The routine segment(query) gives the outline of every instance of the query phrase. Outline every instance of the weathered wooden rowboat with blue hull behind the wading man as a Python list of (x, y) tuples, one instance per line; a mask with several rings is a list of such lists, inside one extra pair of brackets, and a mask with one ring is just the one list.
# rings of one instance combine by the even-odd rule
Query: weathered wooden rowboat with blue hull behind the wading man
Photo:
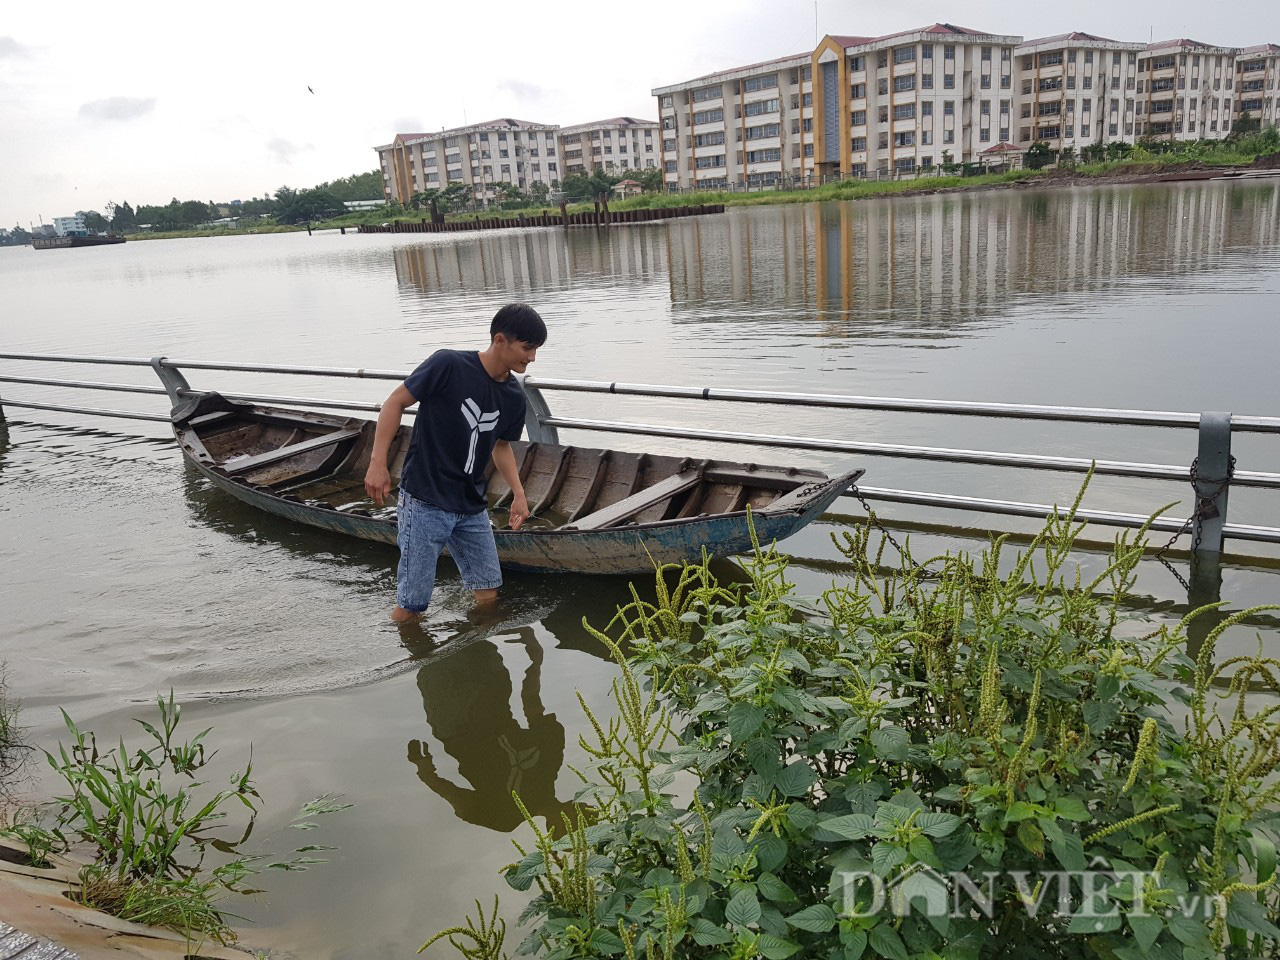
[[(183, 456), (220, 489), (288, 520), (396, 543), (396, 486), (410, 426), (392, 440), (392, 499), (365, 497), (375, 424), (357, 417), (229, 401), (201, 393), (173, 408)], [(861, 470), (814, 470), (512, 444), (531, 517), (507, 524), (511, 489), (490, 463), (489, 503), (503, 566), (535, 572), (643, 573), (654, 563), (751, 549), (748, 507), (762, 543), (815, 520)]]

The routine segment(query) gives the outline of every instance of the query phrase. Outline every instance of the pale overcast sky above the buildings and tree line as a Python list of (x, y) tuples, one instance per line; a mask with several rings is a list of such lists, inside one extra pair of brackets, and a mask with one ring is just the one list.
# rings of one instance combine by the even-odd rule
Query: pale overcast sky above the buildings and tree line
[(655, 86), (812, 50), (815, 32), (874, 36), (938, 20), (1027, 38), (1080, 29), (1280, 44), (1275, 0), (9, 0), (0, 225), (109, 200), (247, 200), (310, 187), (374, 169), (372, 147), (397, 132), (497, 116), (657, 119)]

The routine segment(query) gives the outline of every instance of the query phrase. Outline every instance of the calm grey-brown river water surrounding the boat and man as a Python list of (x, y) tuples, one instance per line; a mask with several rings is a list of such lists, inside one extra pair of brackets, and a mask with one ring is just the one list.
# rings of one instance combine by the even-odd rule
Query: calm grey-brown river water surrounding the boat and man
[[(600, 234), (0, 250), (0, 349), (410, 369), (438, 347), (483, 346), (489, 317), (513, 298), (548, 320), (532, 369), (545, 376), (1280, 415), (1275, 182), (740, 209)], [(141, 369), (0, 367), (151, 383)], [(191, 380), (364, 402), (390, 387), (211, 371)], [(163, 412), (159, 398), (128, 394), (4, 394)], [(760, 433), (1165, 463), (1194, 451), (1179, 430), (548, 398), (571, 416)], [(613, 445), (746, 456), (635, 436)], [(1236, 453), (1242, 468), (1280, 470), (1274, 439), (1243, 438)], [(1046, 503), (1078, 483), (864, 466), (877, 486)], [(1098, 480), (1087, 506), (1148, 512), (1185, 495), (1181, 485)], [(979, 541), (973, 517), (886, 513), (929, 525), (916, 534), (928, 547)], [(1280, 507), (1242, 490), (1231, 517), (1280, 525)], [(803, 590), (840, 576), (828, 534), (842, 522), (828, 517), (788, 541)], [(1234, 607), (1280, 596), (1265, 552), (1253, 554), (1226, 570)], [(575, 690), (603, 703), (612, 676), (580, 623), (608, 620), (625, 581), (511, 576), (500, 622), (475, 625), (445, 567), (439, 607), (421, 631), (401, 634), (384, 623), (394, 562), (392, 549), (293, 527), (210, 489), (161, 425), (17, 408), (0, 425), (0, 660), (33, 739), (56, 741), (59, 707), (101, 733), (128, 731), (173, 687), (193, 728), (215, 727), (220, 758), (252, 745), (262, 849), (297, 845), (288, 819), (317, 794), (356, 803), (320, 837), (340, 847), (334, 863), (268, 876), (266, 897), (236, 908), (255, 920), (248, 942), (278, 955), (412, 956), (474, 896), (492, 896), (518, 836), (509, 791), (539, 815), (570, 800), (566, 764), (580, 758), (582, 730)], [(1135, 607), (1176, 617), (1176, 584), (1146, 566)], [(507, 901), (517, 913), (520, 897)]]

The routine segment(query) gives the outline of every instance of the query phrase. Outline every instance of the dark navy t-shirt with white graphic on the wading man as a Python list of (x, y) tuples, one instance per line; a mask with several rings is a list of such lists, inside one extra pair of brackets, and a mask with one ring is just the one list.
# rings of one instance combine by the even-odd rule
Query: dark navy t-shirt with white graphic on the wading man
[(475, 351), (457, 349), (433, 353), (404, 387), (419, 406), (401, 486), (440, 509), (480, 513), (489, 454), (525, 429), (524, 389), (515, 376), (489, 376)]

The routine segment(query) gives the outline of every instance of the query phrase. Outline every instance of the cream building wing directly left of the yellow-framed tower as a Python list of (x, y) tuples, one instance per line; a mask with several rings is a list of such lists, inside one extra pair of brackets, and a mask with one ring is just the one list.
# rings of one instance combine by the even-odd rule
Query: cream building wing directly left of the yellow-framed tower
[(813, 174), (809, 54), (657, 87), (663, 180), (767, 186)]

